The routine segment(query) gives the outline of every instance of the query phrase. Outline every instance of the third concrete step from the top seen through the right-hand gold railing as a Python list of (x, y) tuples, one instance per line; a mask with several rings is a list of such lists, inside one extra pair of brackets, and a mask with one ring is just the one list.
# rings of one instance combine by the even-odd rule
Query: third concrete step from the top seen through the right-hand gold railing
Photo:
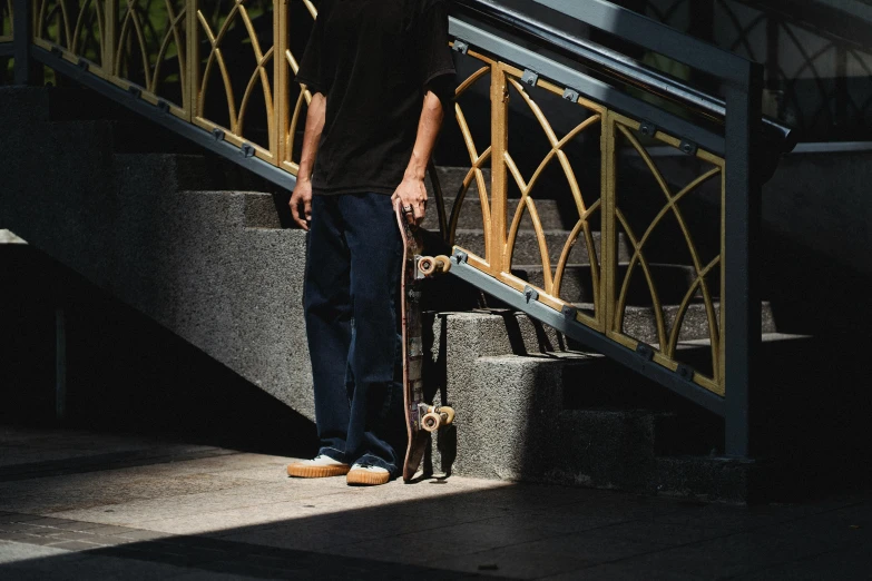
[[(548, 255), (552, 265), (557, 265), (560, 259), (560, 254), (564, 250), (569, 233), (566, 230), (546, 230), (545, 239), (548, 245)], [(594, 248), (597, 256), (600, 255), (600, 239), (601, 235), (598, 232), (594, 233)], [(454, 238), (454, 244), (466, 248), (467, 250), (484, 256), (484, 234), (481, 230), (458, 230)], [(625, 238), (621, 236), (618, 238), (618, 260), (629, 260), (629, 249), (627, 248)], [(570, 254), (571, 264), (588, 264), (590, 257), (588, 255), (587, 245), (584, 240), (576, 243)], [(520, 230), (515, 242), (515, 254), (512, 256), (512, 265), (529, 265), (539, 263), (541, 264), (541, 254), (539, 253), (539, 239), (533, 230)]]

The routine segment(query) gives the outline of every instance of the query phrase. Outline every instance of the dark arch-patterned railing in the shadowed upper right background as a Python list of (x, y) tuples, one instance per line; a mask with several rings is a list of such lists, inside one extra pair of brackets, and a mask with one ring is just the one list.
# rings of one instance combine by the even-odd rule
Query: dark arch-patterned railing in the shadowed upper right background
[[(694, 19), (694, 11), (703, 4), (711, 10), (709, 22)], [(790, 122), (807, 139), (868, 139), (872, 134), (869, 39), (864, 46), (858, 45), (802, 20), (802, 14), (791, 18), (771, 10), (766, 2), (647, 0), (645, 12), (676, 29), (711, 36), (723, 48), (766, 63), (771, 92), (764, 101), (765, 112)], [(700, 26), (709, 28), (700, 30)], [(824, 68), (833, 71), (826, 75)]]

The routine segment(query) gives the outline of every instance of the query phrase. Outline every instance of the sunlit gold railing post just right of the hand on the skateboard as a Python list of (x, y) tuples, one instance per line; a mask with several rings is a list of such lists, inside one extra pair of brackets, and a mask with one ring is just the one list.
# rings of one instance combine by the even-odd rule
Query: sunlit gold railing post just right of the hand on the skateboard
[(509, 272), (506, 256), (506, 213), (508, 198), (508, 173), (506, 151), (509, 148), (509, 86), (501, 62), (496, 62), (490, 76), (491, 111), (491, 185), (490, 185), (490, 232), (484, 233), (484, 259), (490, 274)]

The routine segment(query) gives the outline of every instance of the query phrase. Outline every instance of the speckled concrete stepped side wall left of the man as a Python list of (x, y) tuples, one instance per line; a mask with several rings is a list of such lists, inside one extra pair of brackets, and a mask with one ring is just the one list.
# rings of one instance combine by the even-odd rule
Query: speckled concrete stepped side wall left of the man
[(305, 235), (268, 194), (217, 191), (200, 157), (117, 154), (111, 121), (49, 119), (45, 89), (0, 88), (0, 228), (313, 418)]

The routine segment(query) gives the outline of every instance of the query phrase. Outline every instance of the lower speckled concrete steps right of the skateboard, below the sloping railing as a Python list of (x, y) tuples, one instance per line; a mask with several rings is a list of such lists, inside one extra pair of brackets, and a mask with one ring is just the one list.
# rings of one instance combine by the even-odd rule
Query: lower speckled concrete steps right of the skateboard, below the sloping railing
[(718, 502), (765, 489), (760, 466), (722, 457), (722, 418), (549, 333), (509, 312), (439, 315), (433, 393), (458, 420), (437, 437), (434, 470)]

